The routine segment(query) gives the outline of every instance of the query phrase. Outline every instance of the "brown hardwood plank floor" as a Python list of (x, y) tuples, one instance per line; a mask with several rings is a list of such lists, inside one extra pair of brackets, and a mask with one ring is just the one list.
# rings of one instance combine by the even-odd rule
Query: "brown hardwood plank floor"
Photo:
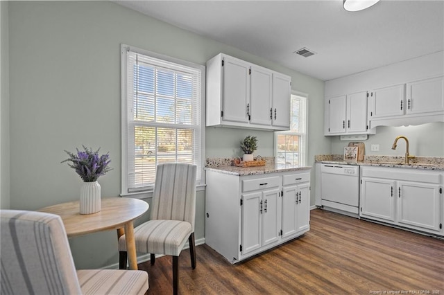
[[(301, 238), (231, 265), (206, 244), (179, 258), (180, 294), (444, 294), (444, 240), (316, 209)], [(171, 257), (139, 264), (171, 294)], [(399, 292), (399, 293), (396, 293)]]

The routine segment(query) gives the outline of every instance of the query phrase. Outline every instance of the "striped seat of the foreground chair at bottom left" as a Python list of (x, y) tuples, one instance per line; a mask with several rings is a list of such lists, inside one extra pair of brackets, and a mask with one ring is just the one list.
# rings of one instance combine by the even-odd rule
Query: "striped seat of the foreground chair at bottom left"
[(82, 294), (145, 294), (148, 274), (145, 271), (111, 269), (78, 270)]

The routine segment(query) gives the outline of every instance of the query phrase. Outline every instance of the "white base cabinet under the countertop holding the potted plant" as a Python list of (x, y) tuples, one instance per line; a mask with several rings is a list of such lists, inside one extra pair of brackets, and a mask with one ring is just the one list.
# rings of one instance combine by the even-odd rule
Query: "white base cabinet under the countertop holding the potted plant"
[(231, 263), (309, 231), (310, 170), (206, 171), (205, 243)]

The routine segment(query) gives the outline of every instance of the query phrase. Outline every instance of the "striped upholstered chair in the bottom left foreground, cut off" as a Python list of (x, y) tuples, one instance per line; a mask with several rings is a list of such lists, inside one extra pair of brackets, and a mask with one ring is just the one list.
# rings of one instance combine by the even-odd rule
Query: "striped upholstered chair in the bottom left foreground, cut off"
[(145, 294), (146, 271), (78, 270), (58, 215), (1, 210), (1, 294)]

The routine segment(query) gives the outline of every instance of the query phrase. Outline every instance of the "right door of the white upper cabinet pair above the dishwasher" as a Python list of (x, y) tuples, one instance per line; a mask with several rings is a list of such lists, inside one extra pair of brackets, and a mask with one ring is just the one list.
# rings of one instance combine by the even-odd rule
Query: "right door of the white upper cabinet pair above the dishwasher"
[(367, 91), (347, 96), (347, 132), (367, 132)]

